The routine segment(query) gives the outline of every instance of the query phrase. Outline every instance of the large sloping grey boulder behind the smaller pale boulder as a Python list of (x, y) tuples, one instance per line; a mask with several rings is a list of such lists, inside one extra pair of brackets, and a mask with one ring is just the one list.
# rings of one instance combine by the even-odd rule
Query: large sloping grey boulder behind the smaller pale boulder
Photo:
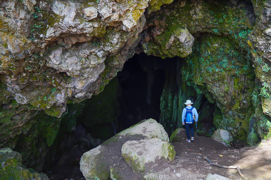
[[(104, 141), (101, 145), (94, 149), (91, 149), (83, 154), (80, 160), (80, 170), (86, 179), (104, 179), (110, 178), (113, 173), (114, 178), (119, 175), (118, 167), (110, 169), (113, 164), (125, 164), (125, 161), (121, 155), (122, 145), (130, 140), (141, 139), (160, 139), (163, 142), (168, 141), (168, 135), (161, 124), (154, 119), (142, 120), (138, 124), (135, 124), (128, 129), (125, 129), (118, 134), (114, 135), (110, 139)], [(166, 141), (162, 140), (165, 139)], [(163, 151), (163, 155), (173, 160), (175, 157), (174, 147), (168, 142), (168, 145), (164, 145), (163, 149), (169, 151)], [(130, 168), (130, 167), (129, 167)], [(110, 173), (111, 171), (111, 173)], [(130, 169), (129, 174), (134, 172)], [(121, 175), (123, 175), (121, 173)], [(141, 176), (138, 173), (134, 173), (134, 176)], [(125, 179), (125, 177), (123, 177)]]

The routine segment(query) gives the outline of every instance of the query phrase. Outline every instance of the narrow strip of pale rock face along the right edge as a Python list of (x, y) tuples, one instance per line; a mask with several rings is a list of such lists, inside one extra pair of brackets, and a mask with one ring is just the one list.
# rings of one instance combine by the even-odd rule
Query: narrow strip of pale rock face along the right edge
[(253, 0), (252, 2), (254, 11), (256, 12), (256, 23), (249, 36), (248, 43), (251, 46), (251, 53), (253, 55), (255, 75), (260, 82), (262, 110), (264, 114), (270, 117), (271, 75), (269, 64), (271, 62), (271, 29), (268, 19), (270, 19), (271, 16), (271, 1)]

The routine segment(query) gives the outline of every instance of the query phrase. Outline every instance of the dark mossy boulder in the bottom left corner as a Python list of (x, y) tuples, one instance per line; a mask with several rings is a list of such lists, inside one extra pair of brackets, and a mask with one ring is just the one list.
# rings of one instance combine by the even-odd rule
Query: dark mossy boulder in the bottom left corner
[(0, 180), (49, 180), (44, 173), (28, 169), (22, 164), (22, 155), (10, 148), (0, 149)]

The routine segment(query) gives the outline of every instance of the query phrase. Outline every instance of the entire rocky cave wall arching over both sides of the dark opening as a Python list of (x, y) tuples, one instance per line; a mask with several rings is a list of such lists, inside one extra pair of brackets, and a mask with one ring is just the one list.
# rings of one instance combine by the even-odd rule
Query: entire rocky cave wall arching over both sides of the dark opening
[[(124, 62), (140, 52), (183, 58), (174, 79), (166, 77), (161, 122), (178, 126), (175, 104), (188, 96), (181, 92), (185, 82), (217, 104), (217, 128), (257, 142), (271, 129), (270, 4), (270, 0), (2, 0), (0, 147), (13, 149), (24, 136), (38, 142), (30, 135), (33, 132), (46, 140), (41, 147), (50, 146), (67, 103), (101, 92)], [(31, 152), (31, 145), (19, 146)]]

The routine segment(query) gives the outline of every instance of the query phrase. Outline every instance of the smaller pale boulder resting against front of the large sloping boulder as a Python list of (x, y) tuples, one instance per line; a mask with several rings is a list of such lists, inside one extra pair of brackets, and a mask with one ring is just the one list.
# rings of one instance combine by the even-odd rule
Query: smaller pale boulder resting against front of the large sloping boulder
[(126, 141), (121, 148), (122, 157), (134, 171), (144, 172), (145, 165), (161, 158), (174, 160), (174, 147), (162, 139), (151, 138)]

